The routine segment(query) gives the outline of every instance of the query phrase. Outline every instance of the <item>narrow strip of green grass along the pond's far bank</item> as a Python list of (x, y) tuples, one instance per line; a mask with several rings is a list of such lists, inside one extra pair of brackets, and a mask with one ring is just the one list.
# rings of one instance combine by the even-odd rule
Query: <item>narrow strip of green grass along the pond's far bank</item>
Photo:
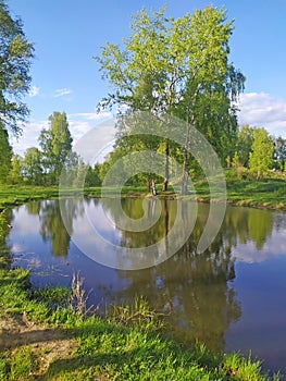
[[(269, 177), (261, 181), (239, 180), (226, 175), (227, 184), (227, 204), (235, 206), (264, 208), (272, 210), (286, 211), (286, 177)], [(175, 188), (175, 189), (174, 189)], [(207, 181), (195, 183), (196, 194), (181, 196), (179, 188), (171, 188), (170, 192), (161, 192), (158, 185), (159, 198), (184, 198), (197, 199), (198, 201), (209, 202), (209, 185)], [(175, 192), (176, 190), (176, 192)], [(67, 196), (78, 195), (80, 189), (69, 189)], [(104, 196), (114, 196), (116, 189), (105, 188)], [(87, 197), (101, 197), (100, 187), (89, 187), (84, 189)], [(146, 186), (125, 186), (121, 190), (123, 197), (146, 197), (150, 196)], [(16, 206), (37, 199), (57, 199), (59, 198), (58, 186), (32, 186), (32, 185), (0, 185), (0, 209), (9, 206)]]

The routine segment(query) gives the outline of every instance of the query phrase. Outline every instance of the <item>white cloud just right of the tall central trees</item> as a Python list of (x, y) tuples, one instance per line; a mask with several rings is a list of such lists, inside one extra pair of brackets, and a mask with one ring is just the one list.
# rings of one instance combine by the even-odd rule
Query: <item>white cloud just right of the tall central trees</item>
[(266, 93), (246, 93), (240, 96), (239, 123), (265, 127), (269, 133), (286, 136), (286, 100)]

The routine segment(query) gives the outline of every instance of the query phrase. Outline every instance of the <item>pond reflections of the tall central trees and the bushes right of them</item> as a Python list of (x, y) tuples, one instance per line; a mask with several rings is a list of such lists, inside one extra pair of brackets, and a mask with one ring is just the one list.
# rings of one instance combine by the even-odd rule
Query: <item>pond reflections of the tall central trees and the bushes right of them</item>
[[(140, 218), (140, 202), (125, 199), (123, 209), (132, 218)], [(105, 207), (111, 207), (109, 204), (110, 200), (104, 201)], [(163, 200), (158, 223), (148, 232), (122, 231), (122, 245), (140, 247), (162, 238), (172, 228), (177, 210), (176, 201)], [(179, 210), (184, 226), (188, 202), (183, 202)], [(116, 220), (116, 211), (110, 208), (110, 212)], [(272, 232), (273, 221), (270, 212), (227, 209), (216, 238), (203, 254), (198, 254), (196, 248), (208, 216), (209, 207), (200, 205), (189, 239), (167, 261), (140, 271), (117, 271), (129, 286), (119, 291), (115, 299), (132, 300), (138, 294), (144, 295), (156, 309), (172, 311), (169, 318), (172, 335), (186, 343), (198, 340), (211, 349), (223, 351), (225, 331), (241, 316), (240, 304), (232, 287), (235, 279), (232, 249), (247, 241), (253, 241), (257, 248), (262, 248)]]

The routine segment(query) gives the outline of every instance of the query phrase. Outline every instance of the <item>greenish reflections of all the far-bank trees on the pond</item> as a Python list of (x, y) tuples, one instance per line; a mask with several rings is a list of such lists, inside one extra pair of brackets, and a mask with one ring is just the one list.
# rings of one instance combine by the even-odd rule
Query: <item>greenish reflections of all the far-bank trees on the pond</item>
[[(135, 220), (144, 214), (141, 199), (123, 198), (122, 209), (111, 198), (84, 201), (70, 198), (61, 202), (70, 233), (73, 233), (76, 225), (75, 220), (78, 226), (85, 218), (85, 207), (90, 207), (94, 213), (99, 209), (101, 212), (104, 210), (115, 225), (116, 221), (122, 221), (122, 209)], [(84, 205), (84, 202), (87, 204)], [(157, 202), (161, 202), (161, 214), (148, 230), (134, 232), (116, 228), (120, 232), (120, 244), (123, 247), (146, 247), (162, 241), (165, 250), (169, 250), (173, 243), (166, 236), (174, 226), (177, 213), (179, 213), (181, 230), (187, 230), (186, 226), (189, 226), (189, 220), (192, 218), (192, 202), (149, 199), (145, 211), (150, 218), (156, 216)], [(66, 256), (71, 237), (63, 223), (59, 201), (29, 202), (26, 209), (29, 213), (39, 216), (40, 234), (45, 242), (50, 242), (52, 255)], [(112, 290), (102, 287), (100, 292), (103, 294), (103, 299), (112, 299), (114, 303), (132, 302), (136, 295), (142, 295), (157, 310), (171, 312), (166, 319), (170, 335), (188, 344), (198, 340), (212, 349), (223, 351), (226, 330), (241, 316), (240, 304), (232, 286), (232, 281), (236, 276), (233, 253), (239, 244), (247, 243), (253, 243), (257, 250), (262, 249), (272, 234), (273, 214), (249, 208), (227, 208), (216, 238), (204, 253), (198, 254), (197, 245), (208, 216), (209, 206), (199, 205), (195, 228), (185, 245), (175, 255), (145, 270), (110, 269), (109, 274), (113, 276), (112, 273), (116, 273), (120, 280), (124, 281), (124, 286), (112, 287)], [(91, 237), (82, 237), (85, 241), (89, 238), (91, 247), (96, 249)], [(176, 238), (178, 241), (182, 238), (179, 231), (174, 239)], [(124, 260), (130, 262), (133, 258), (128, 256), (132, 251), (126, 253), (127, 257)], [(160, 256), (160, 253), (157, 255)], [(90, 261), (88, 263), (90, 266)], [(92, 266), (96, 269), (98, 263), (94, 262)], [(85, 275), (84, 269), (82, 274)], [(109, 280), (105, 281), (109, 284)]]

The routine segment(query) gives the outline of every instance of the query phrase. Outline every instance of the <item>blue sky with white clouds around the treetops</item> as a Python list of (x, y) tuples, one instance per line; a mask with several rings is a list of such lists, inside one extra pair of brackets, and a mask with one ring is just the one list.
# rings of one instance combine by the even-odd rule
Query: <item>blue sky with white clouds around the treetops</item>
[(8, 0), (36, 53), (32, 91), (25, 99), (29, 123), (23, 136), (12, 140), (14, 151), (37, 145), (53, 111), (67, 113), (75, 140), (108, 116), (96, 113), (110, 88), (92, 57), (107, 41), (120, 44), (129, 35), (132, 14), (166, 4), (167, 15), (179, 17), (211, 3), (225, 7), (228, 19), (235, 20), (231, 60), (247, 77), (240, 123), (286, 136), (285, 0)]

